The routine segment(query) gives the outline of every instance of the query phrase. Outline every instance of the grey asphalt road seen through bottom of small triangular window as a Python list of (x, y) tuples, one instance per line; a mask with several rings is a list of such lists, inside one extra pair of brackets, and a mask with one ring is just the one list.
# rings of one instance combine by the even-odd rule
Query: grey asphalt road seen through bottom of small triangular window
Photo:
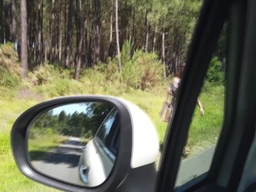
[(201, 154), (183, 159), (180, 164), (176, 186), (181, 186), (193, 178), (205, 174), (210, 169), (214, 150), (215, 146), (212, 146), (210, 149), (202, 151)]

